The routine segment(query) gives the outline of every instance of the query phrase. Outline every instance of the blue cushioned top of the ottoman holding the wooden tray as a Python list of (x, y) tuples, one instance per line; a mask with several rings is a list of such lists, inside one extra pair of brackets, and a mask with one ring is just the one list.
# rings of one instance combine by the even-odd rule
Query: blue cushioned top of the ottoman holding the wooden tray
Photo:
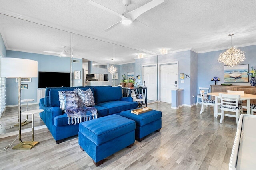
[(142, 113), (140, 115), (136, 115), (134, 113), (131, 113), (131, 111), (122, 111), (120, 115), (134, 120), (136, 122), (136, 125), (142, 127), (150, 122), (156, 121), (157, 119), (161, 119), (162, 112), (152, 110)]

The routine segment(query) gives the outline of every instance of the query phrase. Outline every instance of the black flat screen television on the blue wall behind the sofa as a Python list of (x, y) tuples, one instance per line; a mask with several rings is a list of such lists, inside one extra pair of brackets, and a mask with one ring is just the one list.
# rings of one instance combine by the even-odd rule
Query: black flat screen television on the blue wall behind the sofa
[(70, 87), (70, 73), (38, 72), (38, 88)]

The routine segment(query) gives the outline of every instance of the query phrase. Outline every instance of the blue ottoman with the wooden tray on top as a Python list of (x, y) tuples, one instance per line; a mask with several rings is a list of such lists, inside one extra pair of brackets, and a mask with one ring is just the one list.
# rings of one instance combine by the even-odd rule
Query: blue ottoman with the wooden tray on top
[(148, 111), (140, 115), (131, 113), (131, 110), (122, 111), (121, 116), (132, 119), (136, 122), (135, 139), (141, 142), (144, 138), (154, 132), (159, 132), (162, 127), (162, 112), (161, 111)]

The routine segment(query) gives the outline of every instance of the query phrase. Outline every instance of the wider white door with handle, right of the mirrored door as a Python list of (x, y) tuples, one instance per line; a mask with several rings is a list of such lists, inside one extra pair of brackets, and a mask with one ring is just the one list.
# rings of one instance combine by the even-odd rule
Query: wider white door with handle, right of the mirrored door
[(177, 89), (178, 64), (160, 65), (160, 101), (172, 103), (171, 89)]

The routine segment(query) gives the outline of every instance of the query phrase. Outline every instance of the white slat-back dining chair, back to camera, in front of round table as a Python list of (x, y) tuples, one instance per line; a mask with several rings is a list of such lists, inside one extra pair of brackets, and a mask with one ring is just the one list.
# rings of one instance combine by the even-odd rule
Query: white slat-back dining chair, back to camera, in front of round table
[[(242, 106), (239, 104), (239, 97), (240, 95), (220, 93), (220, 123), (222, 123), (224, 116), (228, 116), (235, 117), (236, 125), (238, 124), (238, 118), (240, 117), (240, 110), (242, 108)], [(225, 113), (225, 111), (234, 112), (235, 114), (233, 115), (230, 113)]]

